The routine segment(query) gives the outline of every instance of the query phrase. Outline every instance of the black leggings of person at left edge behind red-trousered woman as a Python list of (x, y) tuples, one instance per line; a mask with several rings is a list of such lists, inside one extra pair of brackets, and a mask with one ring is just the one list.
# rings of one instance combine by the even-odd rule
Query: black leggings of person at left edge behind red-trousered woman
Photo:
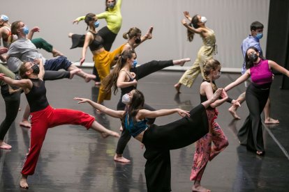
[[(8, 90), (8, 85), (1, 86), (1, 93), (6, 89)], [(13, 94), (3, 94), (3, 99), (5, 101), (5, 109), (6, 109), (6, 117), (0, 125), (0, 140), (3, 141), (4, 136), (6, 135), (10, 125), (12, 125), (13, 121), (17, 117), (17, 113), (20, 106), (20, 91)]]

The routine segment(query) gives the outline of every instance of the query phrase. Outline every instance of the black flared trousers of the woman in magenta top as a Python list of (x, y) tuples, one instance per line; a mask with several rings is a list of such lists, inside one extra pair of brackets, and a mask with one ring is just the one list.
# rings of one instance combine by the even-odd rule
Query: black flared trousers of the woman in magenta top
[(246, 145), (248, 150), (265, 152), (261, 113), (269, 97), (271, 83), (257, 85), (251, 83), (246, 89), (246, 104), (249, 109), (249, 116), (244, 121), (238, 132), (238, 138), (242, 145)]

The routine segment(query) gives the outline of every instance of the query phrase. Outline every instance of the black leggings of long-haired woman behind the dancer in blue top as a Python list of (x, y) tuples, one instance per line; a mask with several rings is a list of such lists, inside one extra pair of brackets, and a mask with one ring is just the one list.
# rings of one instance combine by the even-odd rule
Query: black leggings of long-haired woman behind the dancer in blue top
[[(143, 77), (146, 77), (147, 75), (157, 72), (158, 70), (162, 70), (165, 67), (172, 66), (172, 60), (170, 61), (150, 61), (148, 63), (144, 63), (138, 67), (132, 68), (131, 72), (134, 72), (136, 74), (135, 79), (139, 80)], [(129, 91), (128, 91), (129, 92)], [(125, 93), (121, 94), (121, 97)], [(124, 110), (124, 107), (126, 105), (121, 102), (121, 98), (119, 99), (119, 103), (117, 104), (117, 110)], [(156, 109), (152, 108), (151, 106), (144, 104), (144, 109), (147, 109), (149, 111), (156, 111)], [(154, 123), (154, 119), (149, 119), (149, 124)], [(131, 139), (131, 134), (124, 128), (124, 130), (121, 132), (121, 137), (119, 138), (119, 141), (117, 142), (117, 154), (123, 154), (124, 149), (126, 148), (126, 145), (128, 144), (128, 141)]]

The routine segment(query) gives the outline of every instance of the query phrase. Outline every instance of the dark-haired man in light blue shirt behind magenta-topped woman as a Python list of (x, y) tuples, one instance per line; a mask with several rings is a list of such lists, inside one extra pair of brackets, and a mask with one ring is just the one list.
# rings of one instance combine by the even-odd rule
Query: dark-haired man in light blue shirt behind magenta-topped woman
[[(264, 29), (263, 24), (261, 24), (260, 22), (253, 22), (250, 26), (251, 35), (249, 35), (242, 42), (241, 49), (242, 49), (242, 54), (244, 57), (244, 63), (242, 66), (242, 74), (244, 74), (246, 72), (245, 58), (246, 58), (246, 51), (248, 50), (249, 47), (255, 47), (256, 49), (258, 49), (260, 55), (263, 56), (263, 51), (262, 51), (261, 45), (260, 45), (260, 39), (263, 36), (263, 29)], [(251, 83), (250, 79), (245, 81), (245, 87), (248, 88), (250, 83)], [(246, 92), (242, 93), (237, 98), (237, 100), (239, 101), (240, 104), (242, 104), (242, 102), (245, 101), (245, 94), (246, 94)], [(228, 111), (231, 113), (233, 118), (241, 119), (239, 117), (239, 115), (237, 115), (237, 109), (238, 109), (238, 106), (232, 105), (228, 109)], [(264, 115), (265, 115), (265, 124), (278, 124), (279, 123), (279, 120), (274, 120), (270, 116), (270, 99), (269, 98), (268, 98), (268, 101), (267, 101), (265, 108), (264, 108)]]

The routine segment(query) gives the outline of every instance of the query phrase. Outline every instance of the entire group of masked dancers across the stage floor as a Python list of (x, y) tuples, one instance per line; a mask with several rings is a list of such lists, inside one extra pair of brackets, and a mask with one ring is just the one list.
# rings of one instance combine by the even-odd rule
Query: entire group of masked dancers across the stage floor
[[(127, 42), (114, 51), (110, 51), (112, 43), (121, 29), (122, 0), (106, 0), (105, 2), (104, 13), (97, 15), (88, 13), (73, 21), (73, 23), (78, 23), (84, 20), (87, 24), (85, 35), (74, 33), (68, 35), (73, 42), (71, 48), (82, 47), (80, 65), (84, 63), (89, 47), (94, 56), (94, 74), (83, 72), (73, 65), (43, 38), (40, 38), (38, 43), (37, 40), (34, 42), (32, 37), (35, 32), (39, 31), (38, 27), (29, 31), (22, 21), (10, 24), (6, 15), (0, 17), (1, 38), (5, 42), (3, 43), (4, 47), (0, 48), (0, 58), (8, 65), (7, 68), (0, 64), (1, 94), (6, 104), (6, 118), (0, 125), (1, 149), (10, 150), (12, 147), (4, 142), (4, 136), (17, 116), (21, 93), (26, 95), (29, 104), (25, 109), (21, 125), (31, 127), (31, 142), (21, 172), (20, 187), (24, 189), (29, 187), (27, 177), (34, 174), (47, 129), (58, 125), (73, 124), (94, 129), (101, 133), (103, 138), (108, 136), (119, 138), (114, 161), (130, 162), (122, 154), (131, 136), (144, 144), (144, 158), (147, 159), (144, 173), (148, 191), (171, 191), (170, 150), (186, 147), (196, 142), (190, 177), (194, 181), (192, 191), (210, 191), (200, 184), (205, 167), (208, 161), (212, 161), (228, 146), (228, 139), (216, 122), (218, 116), (216, 107), (224, 102), (229, 102), (232, 104), (229, 109), (230, 113), (234, 118), (239, 119), (236, 110), (244, 102), (244, 98), (246, 98), (249, 108), (249, 116), (242, 128), (239, 129), (239, 141), (242, 145), (246, 145), (248, 150), (258, 155), (265, 154), (260, 115), (265, 104), (268, 103), (269, 89), (273, 80), (272, 69), (286, 74), (288, 77), (289, 71), (262, 56), (259, 40), (262, 38), (264, 26), (260, 22), (251, 24), (251, 35), (242, 43), (243, 67), (246, 70), (242, 72), (241, 77), (225, 88), (217, 88), (215, 81), (221, 76), (221, 63), (214, 59), (214, 54), (216, 54), (215, 33), (205, 25), (206, 17), (201, 15), (191, 17), (185, 11), (186, 19), (183, 19), (181, 24), (187, 29), (188, 40), (192, 41), (194, 34), (198, 33), (202, 38), (203, 45), (198, 51), (193, 66), (175, 84), (175, 89), (177, 93), (181, 93), (181, 85), (191, 87), (198, 74), (201, 73), (203, 78), (200, 84), (201, 103), (191, 111), (156, 110), (144, 102), (144, 95), (137, 89), (138, 80), (168, 66), (183, 66), (184, 63), (191, 60), (181, 58), (179, 60), (150, 61), (138, 65), (135, 48), (145, 40), (152, 38), (153, 27), (150, 27), (144, 35), (140, 29), (132, 27), (123, 35)], [(99, 31), (97, 30), (98, 19), (105, 19), (108, 24)], [(38, 52), (38, 48), (47, 49), (57, 58), (44, 58)], [(111, 70), (112, 66), (115, 66), (113, 70)], [(97, 101), (82, 97), (74, 99), (80, 104), (90, 104), (101, 113), (121, 119), (121, 135), (106, 129), (87, 113), (71, 109), (54, 109), (50, 106), (46, 98), (47, 90), (44, 81), (72, 79), (75, 74), (86, 82), (96, 81), (96, 85), (100, 85), (100, 88)], [(242, 99), (228, 97), (227, 91), (243, 82), (247, 82), (246, 96), (243, 94)], [(116, 94), (119, 88), (121, 97), (117, 104), (117, 110), (103, 106), (104, 100), (110, 100), (112, 90)], [(172, 113), (179, 113), (181, 119), (162, 126), (154, 124), (157, 117)], [(31, 122), (28, 122), (29, 114)], [(279, 123), (279, 121), (270, 118), (268, 113), (265, 123)]]

